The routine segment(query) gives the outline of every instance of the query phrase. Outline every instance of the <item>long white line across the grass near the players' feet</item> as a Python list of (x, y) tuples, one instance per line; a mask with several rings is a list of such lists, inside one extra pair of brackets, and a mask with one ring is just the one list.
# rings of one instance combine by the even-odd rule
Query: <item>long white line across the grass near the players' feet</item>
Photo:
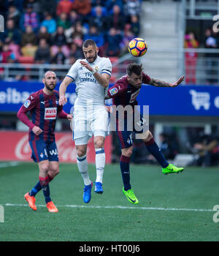
[[(28, 206), (27, 204), (0, 203), (1, 206)], [(38, 207), (46, 207), (45, 205), (37, 205)], [(166, 207), (134, 207), (134, 206), (76, 206), (64, 205), (57, 207), (64, 208), (104, 208), (104, 209), (139, 209), (139, 210), (157, 210), (157, 211), (213, 211), (212, 209), (193, 209), (193, 208), (166, 208)]]

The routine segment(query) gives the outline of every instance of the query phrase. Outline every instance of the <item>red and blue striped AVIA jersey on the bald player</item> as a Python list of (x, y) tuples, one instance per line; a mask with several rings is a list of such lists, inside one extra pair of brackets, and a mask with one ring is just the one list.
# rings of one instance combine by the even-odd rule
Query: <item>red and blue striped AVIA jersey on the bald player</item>
[[(45, 141), (54, 141), (55, 140), (55, 122), (58, 116), (63, 109), (63, 106), (58, 105), (59, 94), (58, 91), (53, 91), (52, 95), (47, 95), (43, 90), (39, 90), (31, 94), (26, 102), (21, 106), (18, 111), (21, 121), (28, 125), (29, 129), (29, 140), (45, 140)], [(24, 115), (30, 112), (31, 121), (27, 121), (24, 118)], [(42, 133), (37, 136), (32, 132), (34, 126), (42, 129)]]

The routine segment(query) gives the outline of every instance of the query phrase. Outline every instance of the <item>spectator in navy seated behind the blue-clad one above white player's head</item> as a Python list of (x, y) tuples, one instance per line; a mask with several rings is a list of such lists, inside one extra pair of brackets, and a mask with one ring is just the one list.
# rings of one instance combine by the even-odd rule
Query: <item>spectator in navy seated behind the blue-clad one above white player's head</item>
[(88, 19), (89, 26), (96, 26), (99, 31), (107, 30), (107, 18), (104, 13), (104, 7), (100, 5), (93, 8), (91, 17)]

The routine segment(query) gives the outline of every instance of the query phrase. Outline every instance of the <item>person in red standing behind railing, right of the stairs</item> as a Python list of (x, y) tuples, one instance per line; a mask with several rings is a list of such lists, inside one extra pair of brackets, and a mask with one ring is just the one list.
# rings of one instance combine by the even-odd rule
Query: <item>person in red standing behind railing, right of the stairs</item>
[[(196, 40), (195, 35), (192, 32), (185, 34), (184, 47), (190, 49), (199, 47), (199, 42)], [(185, 53), (185, 83), (196, 84), (197, 58), (198, 54), (195, 51)]]

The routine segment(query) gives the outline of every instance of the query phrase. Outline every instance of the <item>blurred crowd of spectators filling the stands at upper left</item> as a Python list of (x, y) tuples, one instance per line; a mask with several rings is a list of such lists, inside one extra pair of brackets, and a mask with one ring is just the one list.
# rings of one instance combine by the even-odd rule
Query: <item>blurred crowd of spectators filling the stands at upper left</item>
[(74, 64), (82, 41), (100, 56), (123, 56), (139, 35), (141, 0), (0, 0), (1, 63)]

